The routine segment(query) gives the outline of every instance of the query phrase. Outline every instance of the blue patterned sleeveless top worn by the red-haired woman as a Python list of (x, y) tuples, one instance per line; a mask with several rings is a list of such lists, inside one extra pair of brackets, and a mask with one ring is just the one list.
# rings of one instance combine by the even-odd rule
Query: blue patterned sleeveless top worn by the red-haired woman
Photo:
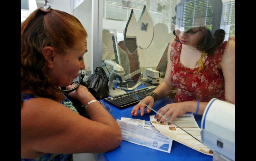
[[(33, 98), (39, 98), (39, 96), (25, 94), (25, 93), (21, 93), (20, 96), (21, 96), (21, 100), (23, 100), (23, 102), (33, 99)], [(61, 104), (68, 107), (69, 109), (73, 110), (77, 114), (79, 114), (78, 111), (76, 110), (76, 108), (74, 107), (73, 103), (68, 98), (65, 98), (61, 102)], [(20, 160), (21, 161), (73, 161), (73, 154), (45, 154), (36, 159), (21, 158)]]

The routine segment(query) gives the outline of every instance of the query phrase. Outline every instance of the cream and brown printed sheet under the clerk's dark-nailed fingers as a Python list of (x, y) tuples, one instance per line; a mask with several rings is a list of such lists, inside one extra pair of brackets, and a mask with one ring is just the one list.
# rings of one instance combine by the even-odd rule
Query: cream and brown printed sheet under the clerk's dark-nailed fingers
[(191, 134), (187, 134), (179, 127), (175, 126), (174, 124), (168, 125), (168, 121), (163, 122), (162, 124), (160, 122), (157, 122), (155, 115), (150, 116), (150, 121), (155, 128), (160, 131), (163, 135), (170, 137), (171, 139), (184, 144), (194, 150), (197, 150), (201, 153), (207, 154), (207, 155), (213, 155), (213, 151), (205, 146), (204, 144), (200, 143), (196, 139), (201, 140), (200, 135), (200, 128), (198, 124), (195, 121), (193, 114), (184, 114), (178, 116), (174, 121), (172, 121), (174, 124)]

